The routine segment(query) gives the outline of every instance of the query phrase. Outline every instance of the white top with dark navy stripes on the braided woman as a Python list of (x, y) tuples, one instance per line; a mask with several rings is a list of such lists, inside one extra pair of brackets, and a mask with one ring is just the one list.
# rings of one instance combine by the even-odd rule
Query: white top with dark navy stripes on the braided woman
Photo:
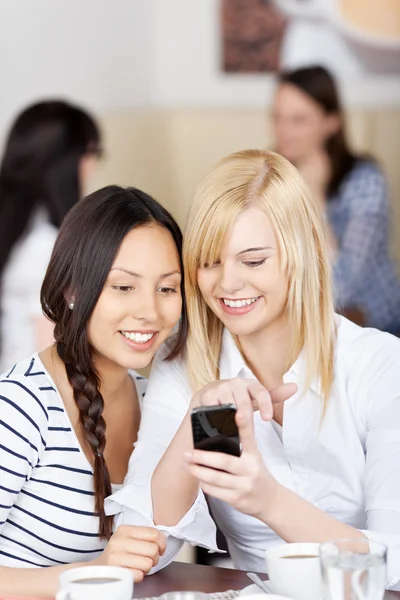
[(92, 467), (35, 354), (0, 377), (0, 565), (91, 560), (105, 546), (98, 526)]

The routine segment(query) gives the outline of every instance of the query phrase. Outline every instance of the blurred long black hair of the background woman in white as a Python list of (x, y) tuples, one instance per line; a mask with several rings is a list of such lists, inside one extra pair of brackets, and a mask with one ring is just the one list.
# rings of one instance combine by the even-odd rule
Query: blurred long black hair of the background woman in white
[(81, 196), (80, 159), (99, 145), (93, 118), (67, 102), (39, 102), (16, 118), (0, 167), (0, 277), (36, 207), (60, 227)]

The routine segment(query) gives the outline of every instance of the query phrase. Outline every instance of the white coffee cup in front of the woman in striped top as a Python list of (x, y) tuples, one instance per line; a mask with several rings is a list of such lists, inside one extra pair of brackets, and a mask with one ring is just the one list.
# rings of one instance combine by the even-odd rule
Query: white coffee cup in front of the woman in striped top
[(56, 600), (131, 600), (132, 597), (131, 571), (98, 565), (64, 571)]

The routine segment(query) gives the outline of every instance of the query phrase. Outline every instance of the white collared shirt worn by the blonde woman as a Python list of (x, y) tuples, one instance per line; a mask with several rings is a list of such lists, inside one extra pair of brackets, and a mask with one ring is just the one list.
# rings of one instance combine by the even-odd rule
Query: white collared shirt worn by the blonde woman
[[(400, 580), (400, 340), (337, 317), (334, 381), (320, 427), (323, 399), (317, 382), (302, 395), (304, 351), (284, 376), (298, 393), (285, 402), (282, 431), (254, 415), (255, 435), (274, 477), (321, 510), (389, 547), (388, 585)], [(144, 399), (138, 442), (124, 487), (107, 501), (119, 523), (153, 524), (151, 475), (189, 406), (191, 393), (180, 361), (155, 361)], [(253, 378), (228, 331), (220, 358), (221, 379)], [(280, 439), (281, 433), (282, 439)], [(267, 525), (209, 498), (235, 566), (265, 571), (264, 551), (282, 540)], [(200, 492), (169, 534), (166, 555), (185, 540), (215, 550), (215, 528)]]

